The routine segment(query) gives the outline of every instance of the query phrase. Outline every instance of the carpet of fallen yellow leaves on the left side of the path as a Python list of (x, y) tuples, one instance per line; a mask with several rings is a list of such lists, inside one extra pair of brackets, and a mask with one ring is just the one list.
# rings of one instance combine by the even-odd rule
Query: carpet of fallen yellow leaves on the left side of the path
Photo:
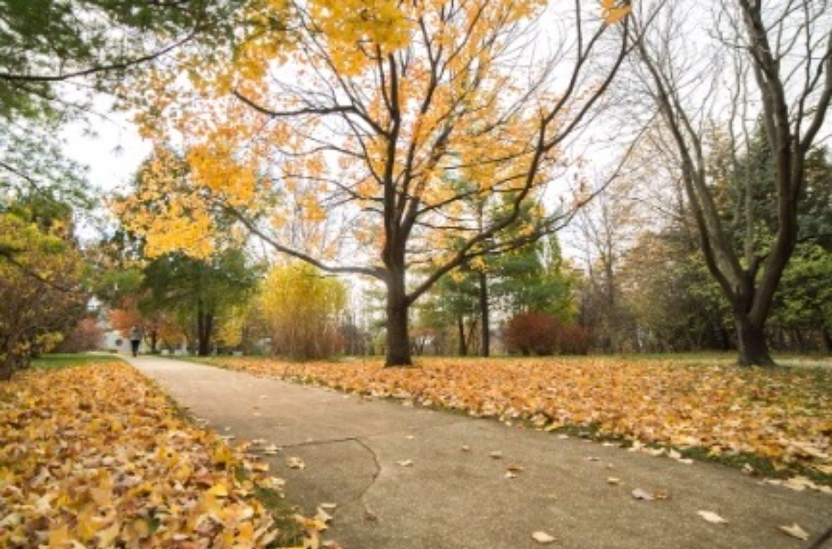
[(0, 547), (264, 547), (257, 473), (120, 362), (0, 385)]

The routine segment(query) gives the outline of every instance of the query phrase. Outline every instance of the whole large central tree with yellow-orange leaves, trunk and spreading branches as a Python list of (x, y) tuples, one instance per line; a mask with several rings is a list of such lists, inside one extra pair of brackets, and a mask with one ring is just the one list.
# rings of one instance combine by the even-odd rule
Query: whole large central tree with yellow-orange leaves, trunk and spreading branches
[[(190, 171), (186, 190), (171, 194), (162, 179), (147, 191), (169, 204), (196, 196), (280, 253), (380, 280), (386, 363), (410, 364), (408, 311), (419, 296), (570, 214), (539, 207), (529, 223), (521, 212), (542, 200), (563, 141), (615, 77), (626, 32), (604, 35), (629, 7), (605, 0), (599, 18), (597, 5), (590, 13), (576, 2), (540, 58), (532, 35), (545, 3), (314, 0), (291, 7), (287, 31), (269, 25), (275, 2), (254, 2), (248, 20), (259, 23), (241, 31), (229, 62), (206, 71), (200, 57), (184, 59), (190, 82), (170, 67), (151, 73), (153, 108), (141, 122), (148, 136), (179, 139)], [(488, 200), (506, 206), (483, 225)], [(184, 210), (206, 219), (192, 203)], [(166, 228), (181, 217), (128, 213), (156, 249), (187, 247)], [(328, 230), (287, 240), (296, 220)]]

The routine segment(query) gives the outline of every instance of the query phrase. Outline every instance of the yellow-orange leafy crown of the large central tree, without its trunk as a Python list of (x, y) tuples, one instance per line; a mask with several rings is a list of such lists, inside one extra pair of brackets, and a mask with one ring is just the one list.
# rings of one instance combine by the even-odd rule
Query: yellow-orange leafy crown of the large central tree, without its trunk
[[(447, 260), (434, 246), (447, 247), (436, 234), (449, 231), (430, 227), (452, 218), (457, 235), (470, 235), (482, 221), (476, 204), (522, 189), (529, 171), (537, 172), (534, 200), (562, 161), (557, 147), (534, 154), (542, 113), (559, 98), (524, 89), (512, 72), (522, 59), (518, 29), (546, 3), (245, 2), (239, 35), (210, 63), (195, 50), (168, 72), (147, 73), (142, 101), (151, 108), (139, 122), (157, 144), (181, 143), (181, 161), (165, 161), (161, 145), (156, 156), (182, 169), (171, 176), (151, 166), (122, 219), (146, 237), (151, 255), (210, 255), (216, 204), (266, 213), (279, 234), (296, 223), (313, 227), (300, 247), (332, 250), (320, 232), (347, 217), (337, 206), (376, 212), (401, 197), (423, 221), (408, 232), (418, 240), (411, 249), (430, 250), (411, 259)], [(602, 0), (607, 22), (628, 9)], [(190, 87), (171, 74), (188, 75)], [(552, 121), (550, 133), (560, 124)], [(146, 207), (151, 201), (158, 205)], [(375, 213), (348, 229), (371, 253), (384, 247)]]

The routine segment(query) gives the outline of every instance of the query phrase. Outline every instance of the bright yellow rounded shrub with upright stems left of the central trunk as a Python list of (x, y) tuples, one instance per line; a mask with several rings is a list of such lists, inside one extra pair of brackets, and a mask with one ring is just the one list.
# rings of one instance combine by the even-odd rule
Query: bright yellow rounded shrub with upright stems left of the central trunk
[(275, 266), (260, 289), (272, 349), (296, 359), (322, 359), (339, 352), (339, 325), (346, 289), (302, 262)]

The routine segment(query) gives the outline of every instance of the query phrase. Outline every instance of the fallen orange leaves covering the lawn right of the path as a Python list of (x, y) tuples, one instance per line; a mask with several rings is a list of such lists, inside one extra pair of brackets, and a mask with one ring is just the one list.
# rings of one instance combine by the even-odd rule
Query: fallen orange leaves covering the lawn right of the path
[(285, 363), (222, 359), (230, 368), (349, 392), (522, 419), (597, 426), (602, 435), (715, 454), (755, 453), (832, 475), (832, 372), (607, 359), (421, 359)]

